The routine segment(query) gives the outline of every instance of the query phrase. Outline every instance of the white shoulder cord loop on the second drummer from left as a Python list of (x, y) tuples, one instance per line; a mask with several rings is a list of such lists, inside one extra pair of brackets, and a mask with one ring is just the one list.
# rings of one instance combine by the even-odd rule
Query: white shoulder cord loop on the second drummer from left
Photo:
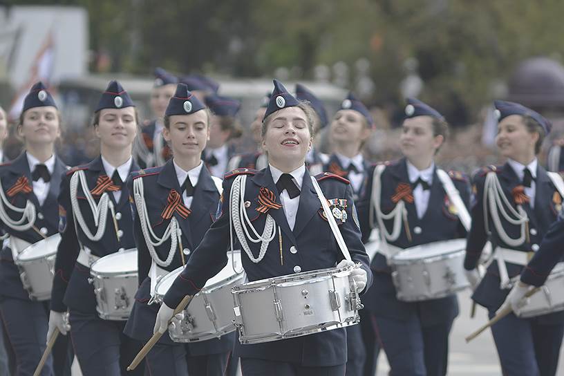
[[(96, 227), (96, 233), (92, 234), (84, 217), (82, 216), (82, 212), (80, 211), (80, 206), (77, 199), (78, 194), (78, 185), (81, 185), (82, 192), (86, 197), (86, 201), (88, 201), (88, 205), (92, 211), (94, 217), (94, 225)], [(106, 220), (108, 218), (108, 209), (113, 210), (113, 203), (111, 203), (110, 197), (106, 192), (102, 194), (100, 197), (100, 201), (96, 204), (96, 201), (92, 197), (90, 193), (90, 189), (88, 189), (88, 184), (86, 182), (86, 175), (84, 171), (78, 170), (73, 173), (71, 176), (71, 205), (73, 207), (73, 214), (84, 232), (84, 235), (91, 241), (100, 241), (102, 236), (104, 236), (104, 232), (106, 231)]]

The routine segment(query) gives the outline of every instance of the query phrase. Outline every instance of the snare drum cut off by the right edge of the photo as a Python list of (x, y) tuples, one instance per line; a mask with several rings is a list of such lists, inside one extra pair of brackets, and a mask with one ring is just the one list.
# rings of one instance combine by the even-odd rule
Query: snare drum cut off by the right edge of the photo
[(545, 284), (515, 314), (526, 318), (561, 310), (564, 310), (564, 263), (556, 264)]

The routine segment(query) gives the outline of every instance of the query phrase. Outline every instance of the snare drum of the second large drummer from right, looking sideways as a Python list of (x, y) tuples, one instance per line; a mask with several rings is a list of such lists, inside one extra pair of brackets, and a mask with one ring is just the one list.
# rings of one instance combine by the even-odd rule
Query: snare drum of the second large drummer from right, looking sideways
[(465, 249), (466, 239), (454, 239), (416, 245), (395, 254), (390, 265), (397, 299), (439, 299), (467, 288)]

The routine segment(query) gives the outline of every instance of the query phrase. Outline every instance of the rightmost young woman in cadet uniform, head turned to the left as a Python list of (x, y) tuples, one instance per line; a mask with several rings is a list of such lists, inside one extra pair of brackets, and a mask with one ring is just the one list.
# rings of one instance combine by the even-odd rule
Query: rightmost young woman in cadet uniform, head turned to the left
[[(536, 157), (551, 124), (517, 103), (497, 100), (495, 106), (499, 120), (496, 143), (507, 162), (484, 167), (473, 177), (476, 200), (464, 260), (476, 287), (472, 299), (487, 308), (489, 317), (509, 294), (511, 279), (523, 272), (530, 256), (539, 250), (562, 205), (557, 189), (561, 179), (547, 174)], [(494, 260), (480, 281), (476, 265), (487, 240)], [(540, 281), (532, 278), (532, 270), (524, 271), (524, 280), (536, 284)], [(529, 319), (511, 313), (494, 324), (491, 332), (505, 375), (555, 375), (564, 312)]]

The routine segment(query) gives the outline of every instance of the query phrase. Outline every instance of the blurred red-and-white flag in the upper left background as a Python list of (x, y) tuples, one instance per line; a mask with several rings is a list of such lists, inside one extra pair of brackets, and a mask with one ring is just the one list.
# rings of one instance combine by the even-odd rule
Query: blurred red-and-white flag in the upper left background
[(23, 100), (28, 94), (31, 86), (35, 82), (41, 81), (45, 86), (50, 86), (51, 75), (53, 74), (53, 65), (55, 63), (55, 44), (53, 42), (53, 32), (48, 32), (45, 41), (30, 68), (29, 78), (26, 83), (23, 84), (10, 105), (10, 111), (8, 112), (8, 119), (10, 121), (17, 120), (19, 114), (21, 113), (21, 108), (23, 107)]

